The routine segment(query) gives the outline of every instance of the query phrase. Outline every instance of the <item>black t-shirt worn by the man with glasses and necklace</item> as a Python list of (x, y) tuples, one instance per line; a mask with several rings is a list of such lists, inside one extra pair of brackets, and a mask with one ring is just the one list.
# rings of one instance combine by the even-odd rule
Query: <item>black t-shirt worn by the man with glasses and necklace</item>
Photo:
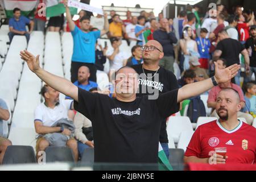
[[(135, 71), (139, 74), (139, 90), (138, 90), (137, 96), (146, 96), (148, 94), (152, 95), (154, 94), (154, 92), (166, 93), (168, 91), (179, 88), (177, 84), (177, 79), (174, 73), (164, 69), (163, 67), (159, 68), (157, 72), (158, 75), (155, 75), (155, 76), (154, 74), (156, 71), (150, 71), (150, 70), (144, 69), (144, 72), (147, 75), (147, 77), (154, 76), (152, 78), (147, 78), (144, 75), (142, 64), (133, 65), (131, 67), (134, 68)], [(163, 119), (161, 123), (162, 125), (160, 129), (159, 142), (168, 143), (168, 135), (166, 131), (166, 119)]]

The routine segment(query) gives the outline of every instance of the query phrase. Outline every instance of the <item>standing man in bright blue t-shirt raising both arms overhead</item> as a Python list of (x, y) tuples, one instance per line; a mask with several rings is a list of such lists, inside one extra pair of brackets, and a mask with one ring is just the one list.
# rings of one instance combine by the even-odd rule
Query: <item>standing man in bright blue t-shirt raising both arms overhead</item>
[(76, 81), (78, 69), (84, 65), (90, 69), (90, 80), (96, 82), (95, 44), (100, 36), (109, 31), (108, 14), (104, 13), (104, 30), (90, 31), (90, 18), (83, 16), (80, 19), (80, 28), (78, 28), (72, 20), (71, 13), (67, 6), (67, 0), (64, 0), (64, 5), (66, 7), (66, 18), (74, 42), (71, 62), (71, 81)]

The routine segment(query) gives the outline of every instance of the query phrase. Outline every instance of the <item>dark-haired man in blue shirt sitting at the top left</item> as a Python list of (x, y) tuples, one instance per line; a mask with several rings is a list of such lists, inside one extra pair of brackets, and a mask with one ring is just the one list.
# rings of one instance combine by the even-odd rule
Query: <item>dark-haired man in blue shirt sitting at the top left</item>
[[(30, 24), (30, 31), (27, 32), (26, 25)], [(13, 18), (9, 20), (9, 29), (8, 33), (10, 42), (13, 40), (14, 35), (24, 35), (26, 36), (27, 42), (30, 39), (30, 34), (34, 29), (34, 22), (25, 16), (20, 14), (20, 9), (17, 7), (13, 10)]]

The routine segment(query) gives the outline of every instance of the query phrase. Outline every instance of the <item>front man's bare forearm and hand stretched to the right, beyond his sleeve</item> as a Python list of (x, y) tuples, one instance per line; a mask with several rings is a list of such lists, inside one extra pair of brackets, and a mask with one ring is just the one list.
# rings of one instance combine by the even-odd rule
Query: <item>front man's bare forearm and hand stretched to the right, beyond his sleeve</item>
[[(217, 83), (223, 83), (229, 81), (231, 78), (237, 75), (238, 70), (240, 69), (240, 65), (233, 64), (225, 69), (218, 69), (218, 65), (214, 62), (215, 65), (215, 75), (214, 78)], [(201, 93), (212, 88), (214, 85), (212, 83), (211, 78), (207, 80), (194, 82), (192, 84), (185, 85), (181, 87), (177, 94), (177, 102), (183, 101), (190, 97), (198, 96)]]

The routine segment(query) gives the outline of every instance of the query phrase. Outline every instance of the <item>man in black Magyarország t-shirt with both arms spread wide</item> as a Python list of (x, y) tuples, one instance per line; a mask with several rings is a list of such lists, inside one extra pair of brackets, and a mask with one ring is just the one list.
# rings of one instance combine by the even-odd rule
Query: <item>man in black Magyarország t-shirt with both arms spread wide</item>
[[(92, 121), (94, 162), (157, 163), (160, 122), (179, 110), (179, 102), (197, 96), (237, 74), (239, 65), (218, 69), (215, 76), (160, 94), (156, 100), (136, 97), (138, 75), (124, 67), (115, 77), (116, 98), (90, 93), (40, 68), (39, 55), (20, 52), (28, 67), (53, 89), (75, 100), (74, 107)], [(214, 63), (216, 64), (216, 63)]]

